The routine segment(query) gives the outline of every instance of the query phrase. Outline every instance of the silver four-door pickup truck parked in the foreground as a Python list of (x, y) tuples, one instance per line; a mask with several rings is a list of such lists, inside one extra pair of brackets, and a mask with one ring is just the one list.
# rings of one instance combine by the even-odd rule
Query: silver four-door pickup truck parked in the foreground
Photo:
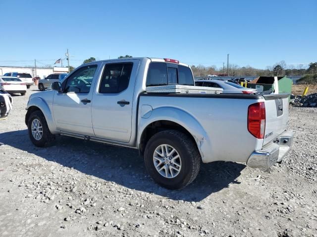
[(268, 168), (289, 151), (288, 95), (146, 93), (172, 83), (194, 85), (190, 67), (147, 57), (81, 65), (30, 96), (29, 137), (38, 147), (59, 134), (138, 149), (168, 189), (190, 184), (201, 162)]

